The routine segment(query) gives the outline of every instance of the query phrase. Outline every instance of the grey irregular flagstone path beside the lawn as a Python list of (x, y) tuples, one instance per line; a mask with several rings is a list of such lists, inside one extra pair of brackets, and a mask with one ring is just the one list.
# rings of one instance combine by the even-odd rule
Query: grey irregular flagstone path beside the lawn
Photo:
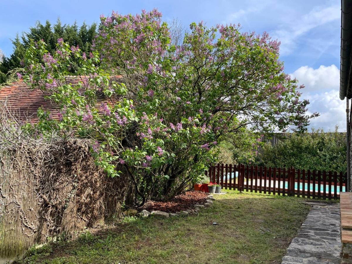
[(313, 205), (282, 264), (340, 264), (340, 205)]

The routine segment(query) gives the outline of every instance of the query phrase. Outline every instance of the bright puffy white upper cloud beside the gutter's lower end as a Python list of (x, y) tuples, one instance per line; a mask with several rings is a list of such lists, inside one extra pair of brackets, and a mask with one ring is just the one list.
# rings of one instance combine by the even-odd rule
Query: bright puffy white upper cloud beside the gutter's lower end
[(306, 92), (326, 91), (339, 89), (340, 71), (336, 65), (320, 65), (318, 69), (302, 66), (290, 74), (296, 77), (300, 84), (304, 84)]

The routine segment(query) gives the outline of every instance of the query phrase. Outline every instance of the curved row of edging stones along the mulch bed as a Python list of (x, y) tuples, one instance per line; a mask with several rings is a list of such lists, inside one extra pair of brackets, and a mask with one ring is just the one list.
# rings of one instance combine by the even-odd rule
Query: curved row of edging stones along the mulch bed
[(166, 213), (166, 212), (158, 211), (158, 210), (155, 210), (152, 212), (149, 212), (147, 210), (142, 210), (138, 215), (141, 218), (147, 218), (148, 216), (154, 216), (157, 218), (169, 218), (169, 217), (175, 217), (175, 216), (197, 215), (202, 208), (205, 208), (207, 206), (211, 206), (213, 204), (214, 200), (215, 199), (214, 199), (213, 195), (209, 194), (207, 196), (207, 200), (204, 205), (194, 205), (194, 208), (189, 208), (189, 209), (187, 209), (187, 211), (180, 211), (180, 212), (176, 212), (176, 214), (174, 214), (174, 213)]

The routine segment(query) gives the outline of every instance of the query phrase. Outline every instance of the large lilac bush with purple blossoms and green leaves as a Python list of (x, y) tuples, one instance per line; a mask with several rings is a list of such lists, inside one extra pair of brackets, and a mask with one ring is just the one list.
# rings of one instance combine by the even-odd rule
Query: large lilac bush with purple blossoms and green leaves
[(157, 10), (101, 15), (89, 55), (58, 39), (55, 54), (37, 42), (25, 57), (24, 80), (61, 109), (58, 120), (40, 110), (38, 130), (92, 139), (98, 166), (130, 175), (136, 205), (184, 191), (215, 161), (218, 143), (304, 131), (317, 115), (306, 114), (309, 102), (267, 33), (192, 23), (175, 46), (161, 18)]

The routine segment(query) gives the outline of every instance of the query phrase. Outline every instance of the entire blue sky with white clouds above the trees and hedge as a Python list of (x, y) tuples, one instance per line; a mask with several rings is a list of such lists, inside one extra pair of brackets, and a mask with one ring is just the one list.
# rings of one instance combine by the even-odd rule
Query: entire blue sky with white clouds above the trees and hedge
[(2, 1), (0, 9), (0, 49), (12, 52), (11, 38), (27, 31), (36, 21), (88, 24), (99, 15), (140, 13), (158, 8), (165, 21), (178, 18), (184, 25), (193, 21), (242, 25), (243, 31), (269, 32), (281, 41), (285, 72), (297, 77), (306, 88), (309, 112), (320, 112), (312, 120), (315, 128), (345, 130), (345, 102), (339, 99), (340, 1), (339, 0), (246, 0), (246, 1)]

